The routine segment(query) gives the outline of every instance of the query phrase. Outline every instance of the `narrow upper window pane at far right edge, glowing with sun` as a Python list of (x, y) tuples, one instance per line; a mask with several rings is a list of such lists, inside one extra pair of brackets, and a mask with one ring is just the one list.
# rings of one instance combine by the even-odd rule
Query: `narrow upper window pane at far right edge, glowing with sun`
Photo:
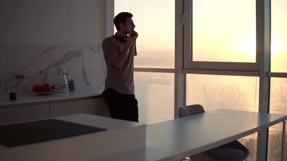
[(287, 0), (271, 0), (271, 71), (287, 72)]

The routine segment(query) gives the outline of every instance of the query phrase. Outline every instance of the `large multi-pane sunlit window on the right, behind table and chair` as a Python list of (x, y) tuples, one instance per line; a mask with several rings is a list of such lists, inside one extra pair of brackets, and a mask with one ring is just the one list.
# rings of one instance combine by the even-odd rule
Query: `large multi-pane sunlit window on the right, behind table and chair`
[[(197, 73), (186, 75), (186, 104), (201, 104), (206, 111), (287, 114), (286, 78), (271, 78), (269, 85), (265, 74), (287, 77), (287, 73), (272, 73), (287, 72), (287, 0), (183, 1), (187, 13), (183, 68), (184, 73)], [(259, 77), (242, 77), (251, 75)], [(282, 123), (269, 128), (269, 161), (281, 159), (281, 138)], [(256, 140), (256, 134), (240, 139), (250, 149), (251, 161), (256, 160)]]

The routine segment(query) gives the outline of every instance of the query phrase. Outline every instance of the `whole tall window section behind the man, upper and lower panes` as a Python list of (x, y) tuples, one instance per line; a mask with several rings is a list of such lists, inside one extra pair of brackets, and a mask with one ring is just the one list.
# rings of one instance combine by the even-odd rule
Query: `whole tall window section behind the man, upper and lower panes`
[(114, 0), (114, 16), (121, 12), (133, 14), (139, 34), (134, 58), (139, 121), (174, 119), (175, 0)]

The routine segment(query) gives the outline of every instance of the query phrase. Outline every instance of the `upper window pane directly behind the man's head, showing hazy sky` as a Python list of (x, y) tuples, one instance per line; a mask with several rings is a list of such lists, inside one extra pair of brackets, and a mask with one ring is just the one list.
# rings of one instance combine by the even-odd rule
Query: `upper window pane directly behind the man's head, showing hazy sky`
[(174, 68), (175, 0), (115, 0), (120, 12), (133, 14), (139, 33), (135, 67)]

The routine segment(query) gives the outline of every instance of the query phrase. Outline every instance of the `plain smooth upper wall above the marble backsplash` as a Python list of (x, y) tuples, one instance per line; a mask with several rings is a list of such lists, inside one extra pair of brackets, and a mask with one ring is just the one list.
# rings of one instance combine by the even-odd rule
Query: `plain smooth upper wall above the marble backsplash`
[(1, 0), (0, 44), (100, 46), (106, 0)]

